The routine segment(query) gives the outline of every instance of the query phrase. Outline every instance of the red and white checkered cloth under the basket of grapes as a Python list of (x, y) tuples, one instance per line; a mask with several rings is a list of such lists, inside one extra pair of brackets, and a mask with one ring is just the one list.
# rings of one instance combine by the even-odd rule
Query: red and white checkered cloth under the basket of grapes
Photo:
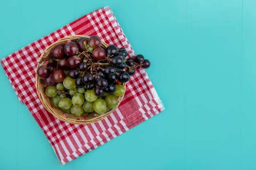
[(108, 44), (115, 44), (119, 48), (124, 46), (128, 57), (135, 56), (110, 7), (103, 7), (1, 60), (20, 102), (25, 103), (42, 128), (62, 165), (164, 110), (147, 73), (140, 69), (127, 83), (125, 97), (117, 110), (102, 121), (75, 125), (53, 117), (45, 110), (36, 93), (37, 60), (47, 46), (67, 35), (98, 35)]

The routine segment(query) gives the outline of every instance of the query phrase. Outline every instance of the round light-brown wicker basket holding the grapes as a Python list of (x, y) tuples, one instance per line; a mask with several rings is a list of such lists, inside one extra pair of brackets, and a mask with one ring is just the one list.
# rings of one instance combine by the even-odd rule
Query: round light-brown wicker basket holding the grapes
[[(76, 42), (81, 37), (90, 38), (90, 36), (86, 36), (86, 35), (72, 35), (72, 36), (67, 36), (65, 38), (62, 38), (62, 39), (54, 42), (50, 46), (48, 46), (45, 49), (45, 51), (43, 51), (42, 55), (40, 56), (37, 68), (44, 63), (43, 62), (44, 60), (46, 60), (49, 56), (51, 56), (52, 48), (55, 45), (57, 45), (57, 44), (64, 45), (67, 42), (67, 40)], [(108, 47), (108, 44), (106, 44), (105, 42), (101, 42), (101, 47), (103, 49), (106, 49)], [(65, 121), (67, 123), (70, 123), (70, 124), (92, 124), (92, 123), (102, 120), (117, 109), (117, 107), (121, 103), (121, 100), (124, 97), (124, 96), (119, 97), (118, 98), (119, 103), (118, 103), (117, 107), (107, 110), (106, 113), (98, 114), (96, 112), (92, 112), (92, 113), (89, 113), (88, 115), (86, 115), (85, 117), (74, 117), (72, 114), (64, 113), (60, 108), (55, 108), (54, 106), (52, 106), (50, 98), (47, 97), (47, 95), (45, 95), (46, 85), (44, 84), (43, 78), (38, 77), (37, 74), (36, 74), (35, 78), (36, 78), (36, 91), (37, 91), (38, 97), (39, 97), (40, 101), (42, 102), (43, 106), (49, 111), (49, 113), (54, 115), (54, 117), (56, 117), (62, 121)], [(126, 84), (122, 83), (121, 85), (125, 87)]]

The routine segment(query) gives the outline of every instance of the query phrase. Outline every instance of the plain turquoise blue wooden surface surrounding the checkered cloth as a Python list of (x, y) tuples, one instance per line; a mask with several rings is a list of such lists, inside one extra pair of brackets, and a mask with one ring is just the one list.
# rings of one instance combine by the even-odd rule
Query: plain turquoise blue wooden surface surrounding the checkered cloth
[(105, 5), (166, 110), (60, 166), (0, 68), (0, 169), (256, 169), (255, 0), (1, 0), (0, 58)]

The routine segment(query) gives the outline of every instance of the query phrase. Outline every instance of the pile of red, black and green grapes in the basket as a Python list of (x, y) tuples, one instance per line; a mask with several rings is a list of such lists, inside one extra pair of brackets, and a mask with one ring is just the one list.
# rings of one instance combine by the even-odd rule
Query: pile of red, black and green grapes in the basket
[(98, 36), (79, 38), (76, 42), (56, 45), (37, 75), (47, 85), (45, 94), (51, 103), (75, 117), (88, 113), (105, 113), (118, 105), (118, 97), (125, 93), (124, 86), (134, 75), (135, 68), (148, 68), (149, 60), (136, 55), (134, 60), (125, 59), (124, 47), (101, 47)]

